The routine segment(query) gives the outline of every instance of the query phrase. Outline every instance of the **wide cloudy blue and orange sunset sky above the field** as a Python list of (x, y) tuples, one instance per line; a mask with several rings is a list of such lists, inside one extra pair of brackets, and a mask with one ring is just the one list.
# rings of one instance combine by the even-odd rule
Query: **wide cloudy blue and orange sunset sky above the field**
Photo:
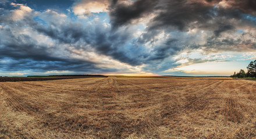
[(255, 0), (0, 1), (0, 76), (229, 76), (255, 59)]

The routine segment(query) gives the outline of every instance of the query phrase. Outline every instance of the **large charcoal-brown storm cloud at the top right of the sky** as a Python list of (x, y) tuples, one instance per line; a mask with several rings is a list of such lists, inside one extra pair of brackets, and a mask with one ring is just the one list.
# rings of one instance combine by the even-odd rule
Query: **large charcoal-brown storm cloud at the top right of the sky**
[(215, 35), (233, 29), (229, 20), (241, 20), (243, 14), (236, 8), (225, 9), (219, 6), (208, 5), (200, 2), (165, 1), (159, 3), (161, 12), (152, 19), (148, 30), (179, 30), (199, 28), (201, 30), (216, 30)]

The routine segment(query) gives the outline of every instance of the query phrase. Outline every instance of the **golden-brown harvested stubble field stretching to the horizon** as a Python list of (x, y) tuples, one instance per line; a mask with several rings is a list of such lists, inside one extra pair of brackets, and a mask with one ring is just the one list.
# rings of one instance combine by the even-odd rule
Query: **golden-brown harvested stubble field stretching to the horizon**
[(254, 138), (256, 82), (79, 78), (0, 83), (0, 138)]

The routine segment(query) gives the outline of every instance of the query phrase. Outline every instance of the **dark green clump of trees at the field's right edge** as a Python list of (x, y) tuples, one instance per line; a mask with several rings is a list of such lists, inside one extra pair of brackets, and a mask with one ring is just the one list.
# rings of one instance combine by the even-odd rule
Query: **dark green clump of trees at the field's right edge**
[(246, 77), (256, 78), (256, 60), (250, 62), (250, 64), (247, 67), (247, 73), (244, 72), (244, 69), (240, 69), (240, 71), (238, 73), (234, 72), (234, 75), (232, 75), (232, 77), (235, 77), (235, 78), (246, 78)]

